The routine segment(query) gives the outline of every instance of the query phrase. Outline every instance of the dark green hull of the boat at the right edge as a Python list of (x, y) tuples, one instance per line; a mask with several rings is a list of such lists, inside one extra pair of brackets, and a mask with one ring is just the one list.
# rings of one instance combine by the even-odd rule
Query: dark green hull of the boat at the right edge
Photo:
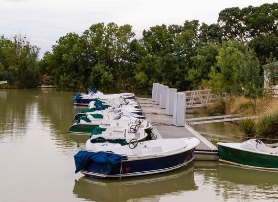
[(219, 161), (255, 169), (278, 170), (278, 157), (218, 145)]

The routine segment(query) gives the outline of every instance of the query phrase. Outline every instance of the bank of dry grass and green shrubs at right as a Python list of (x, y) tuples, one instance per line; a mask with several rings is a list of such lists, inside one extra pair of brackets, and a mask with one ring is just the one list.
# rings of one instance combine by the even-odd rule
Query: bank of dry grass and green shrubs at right
[(207, 107), (209, 114), (242, 114), (242, 116), (262, 116), (260, 119), (245, 119), (238, 124), (245, 137), (268, 138), (264, 142), (278, 142), (278, 99), (263, 97), (253, 99), (234, 96)]

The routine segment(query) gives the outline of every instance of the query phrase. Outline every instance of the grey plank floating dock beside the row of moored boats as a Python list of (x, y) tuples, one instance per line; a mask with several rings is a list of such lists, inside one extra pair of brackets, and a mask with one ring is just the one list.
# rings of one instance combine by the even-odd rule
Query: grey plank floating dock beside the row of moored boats
[(166, 115), (165, 109), (159, 108), (150, 98), (137, 98), (137, 101), (146, 120), (153, 125), (153, 139), (196, 137), (200, 140), (200, 144), (195, 150), (196, 160), (217, 160), (217, 147), (189, 125), (185, 124), (185, 127), (174, 126), (172, 116)]

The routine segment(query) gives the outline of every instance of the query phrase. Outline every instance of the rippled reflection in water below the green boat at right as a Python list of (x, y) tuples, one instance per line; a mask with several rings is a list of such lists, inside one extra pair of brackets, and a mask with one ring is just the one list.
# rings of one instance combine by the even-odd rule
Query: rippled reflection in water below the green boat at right
[(278, 172), (254, 170), (220, 163), (217, 182), (227, 198), (235, 195), (242, 200), (273, 200), (278, 197)]

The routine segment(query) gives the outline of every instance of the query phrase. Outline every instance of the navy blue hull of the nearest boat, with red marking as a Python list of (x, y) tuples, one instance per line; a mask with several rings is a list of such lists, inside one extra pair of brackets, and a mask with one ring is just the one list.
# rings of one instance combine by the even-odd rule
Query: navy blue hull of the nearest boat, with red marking
[(194, 160), (194, 149), (156, 158), (123, 160), (122, 163), (91, 163), (80, 172), (92, 178), (131, 177), (167, 172), (185, 166)]

